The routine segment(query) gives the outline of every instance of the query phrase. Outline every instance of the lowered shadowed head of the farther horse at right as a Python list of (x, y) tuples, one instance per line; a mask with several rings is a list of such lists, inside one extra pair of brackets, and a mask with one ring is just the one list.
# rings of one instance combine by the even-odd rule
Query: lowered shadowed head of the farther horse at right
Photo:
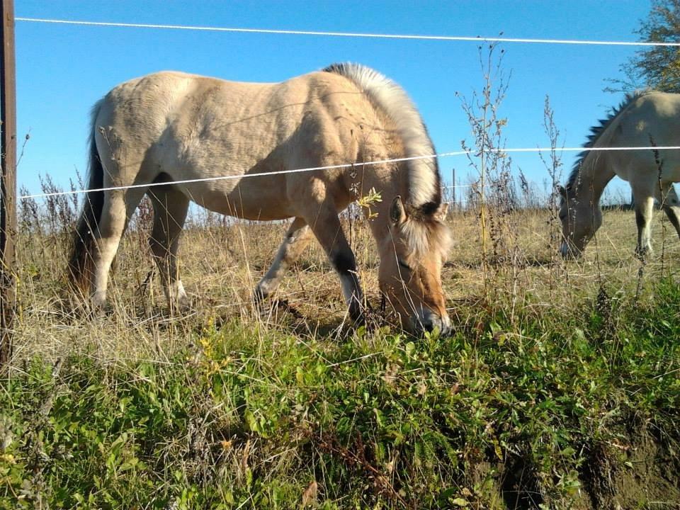
[(586, 244), (602, 225), (602, 212), (590, 200), (578, 200), (572, 188), (560, 186), (560, 221), (562, 222), (562, 246), (565, 259), (577, 259)]

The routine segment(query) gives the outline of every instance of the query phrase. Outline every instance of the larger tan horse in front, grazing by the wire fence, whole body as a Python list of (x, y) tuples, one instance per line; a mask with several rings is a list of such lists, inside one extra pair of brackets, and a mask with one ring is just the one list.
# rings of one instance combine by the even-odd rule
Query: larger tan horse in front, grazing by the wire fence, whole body
[[(446, 332), (441, 266), (449, 231), (429, 154), (432, 142), (407, 94), (358, 64), (334, 64), (279, 84), (179, 72), (127, 81), (94, 106), (93, 191), (69, 262), (73, 283), (95, 307), (104, 304), (120, 238), (147, 193), (154, 206), (151, 249), (171, 307), (188, 304), (176, 256), (193, 200), (248, 220), (294, 218), (254, 290), (256, 300), (276, 290), (314, 236), (358, 319), (361, 286), (338, 214), (375, 188), (382, 203), (370, 228), (380, 251), (380, 290), (407, 329)], [(395, 159), (402, 161), (388, 161)], [(288, 172), (310, 168), (317, 169)]]

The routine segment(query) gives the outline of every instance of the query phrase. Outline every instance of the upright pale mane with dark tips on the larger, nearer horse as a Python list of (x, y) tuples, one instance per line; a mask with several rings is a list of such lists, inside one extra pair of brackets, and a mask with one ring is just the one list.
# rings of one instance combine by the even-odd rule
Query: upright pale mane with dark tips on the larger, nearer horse
[[(379, 72), (361, 64), (331, 64), (325, 72), (351, 79), (382, 108), (395, 123), (402, 138), (405, 157), (435, 154), (423, 120), (404, 89)], [(431, 215), (441, 205), (441, 176), (436, 157), (406, 162), (409, 196), (406, 203), (424, 215)]]

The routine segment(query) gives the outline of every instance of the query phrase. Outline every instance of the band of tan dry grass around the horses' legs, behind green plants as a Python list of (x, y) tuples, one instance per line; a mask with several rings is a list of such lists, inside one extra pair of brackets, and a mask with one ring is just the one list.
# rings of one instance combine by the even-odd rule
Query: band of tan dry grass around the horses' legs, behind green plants
[[(346, 310), (339, 283), (318, 244), (310, 245), (283, 280), (278, 297), (287, 306), (273, 301), (268, 310), (255, 312), (251, 290), (271, 263), (285, 224), (225, 222), (201, 213), (184, 232), (180, 251), (182, 279), (192, 297), (193, 312), (169, 316), (159, 278), (153, 278), (152, 285), (144, 284), (153, 267), (147, 249), (147, 222), (145, 218), (133, 222), (125, 236), (110, 286), (111, 313), (96, 319), (82, 317), (74, 312), (71, 301), (64, 300), (67, 229), (47, 233), (27, 225), (30, 232), (23, 232), (18, 247), (18, 359), (36, 354), (54, 358), (86, 349), (104, 360), (162, 360), (186, 346), (191, 331), (209, 317), (222, 321), (236, 318), (307, 336), (331, 334), (343, 326)], [(477, 213), (450, 216), (455, 244), (442, 279), (450, 315), (459, 328), (469, 326), (466, 312), (475, 303), (487, 307), (497, 303), (509, 316), (519, 309), (540, 314), (544, 307), (569, 310), (584, 297), (594, 298), (603, 286), (609, 295), (641, 293), (640, 299), (645, 299), (642, 291), (648, 283), (678, 270), (680, 243), (660, 213), (653, 236), (656, 253), (644, 268), (633, 255), (633, 212), (605, 212), (604, 226), (584, 259), (569, 263), (558, 259), (556, 247), (550, 246), (550, 231), (555, 226), (547, 211), (497, 213), (497, 224), (494, 235), (504, 237), (504, 243), (490, 254), (490, 276), (485, 281), (480, 276)], [(373, 239), (361, 220), (351, 225), (346, 222), (345, 227), (351, 232), (368, 300), (378, 305), (378, 257)], [(91, 352), (93, 348), (96, 353)]]

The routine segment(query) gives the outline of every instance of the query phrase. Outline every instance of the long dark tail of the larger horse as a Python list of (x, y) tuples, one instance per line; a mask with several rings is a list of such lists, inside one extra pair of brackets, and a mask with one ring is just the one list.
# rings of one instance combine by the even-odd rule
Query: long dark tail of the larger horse
[(102, 101), (98, 101), (92, 108), (92, 121), (89, 136), (88, 162), (88, 191), (85, 196), (83, 211), (74, 232), (71, 256), (69, 257), (69, 281), (74, 290), (87, 295), (89, 292), (90, 276), (93, 271), (93, 255), (95, 249), (95, 234), (101, 219), (104, 205), (104, 169), (97, 151), (94, 130), (95, 120)]

